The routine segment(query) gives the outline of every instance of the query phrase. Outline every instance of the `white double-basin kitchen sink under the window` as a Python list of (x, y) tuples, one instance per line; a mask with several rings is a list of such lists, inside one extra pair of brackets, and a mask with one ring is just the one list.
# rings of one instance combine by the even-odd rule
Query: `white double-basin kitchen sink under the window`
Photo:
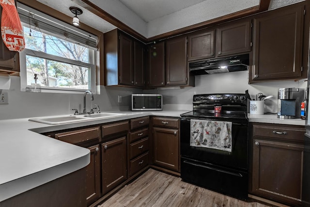
[(65, 116), (48, 116), (48, 117), (38, 117), (30, 118), (29, 121), (40, 122), (43, 124), (55, 125), (55, 124), (66, 124), (74, 123), (80, 121), (89, 121), (93, 119), (107, 119), (119, 116), (125, 116), (125, 113), (91, 113), (91, 114), (80, 114), (75, 116), (65, 115)]

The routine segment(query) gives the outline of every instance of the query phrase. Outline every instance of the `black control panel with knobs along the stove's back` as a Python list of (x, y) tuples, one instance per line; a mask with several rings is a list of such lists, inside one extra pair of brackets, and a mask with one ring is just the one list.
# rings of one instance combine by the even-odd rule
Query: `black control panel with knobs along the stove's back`
[(198, 94), (193, 96), (193, 103), (200, 104), (246, 104), (245, 94)]

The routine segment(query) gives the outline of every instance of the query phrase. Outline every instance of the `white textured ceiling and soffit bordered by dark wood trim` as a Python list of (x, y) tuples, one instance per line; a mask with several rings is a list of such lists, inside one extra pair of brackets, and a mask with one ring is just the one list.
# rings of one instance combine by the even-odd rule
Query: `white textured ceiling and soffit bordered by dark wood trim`
[[(80, 22), (101, 32), (116, 28), (108, 21), (81, 7), (84, 0), (37, 0), (73, 16), (70, 6), (83, 10)], [(146, 38), (199, 24), (227, 14), (257, 6), (260, 0), (86, 0), (98, 6), (110, 16), (123, 22), (128, 28)], [(271, 0), (282, 4), (300, 0)], [(284, 3), (283, 3), (284, 2)]]

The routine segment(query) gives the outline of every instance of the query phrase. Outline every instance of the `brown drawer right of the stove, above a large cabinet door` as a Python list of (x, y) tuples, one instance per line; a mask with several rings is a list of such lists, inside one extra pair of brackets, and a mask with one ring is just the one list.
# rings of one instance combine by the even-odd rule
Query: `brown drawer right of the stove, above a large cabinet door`
[(253, 137), (268, 137), (281, 140), (304, 141), (306, 129), (279, 125), (253, 124)]

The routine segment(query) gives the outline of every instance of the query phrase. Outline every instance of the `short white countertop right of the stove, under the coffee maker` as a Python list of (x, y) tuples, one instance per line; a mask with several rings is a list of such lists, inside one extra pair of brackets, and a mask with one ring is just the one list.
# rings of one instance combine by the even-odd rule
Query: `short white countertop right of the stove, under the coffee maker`
[(270, 123), (270, 124), (286, 124), (305, 126), (306, 121), (300, 118), (297, 119), (279, 119), (277, 114), (256, 115), (248, 113), (249, 122)]

